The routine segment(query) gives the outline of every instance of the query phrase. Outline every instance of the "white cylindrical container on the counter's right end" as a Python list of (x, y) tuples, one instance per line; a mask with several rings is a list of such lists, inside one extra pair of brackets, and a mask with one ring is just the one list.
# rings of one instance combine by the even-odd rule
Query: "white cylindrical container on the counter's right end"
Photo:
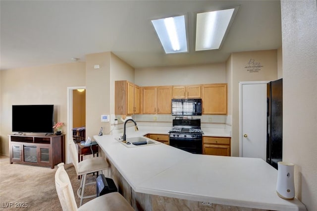
[(292, 200), (295, 197), (294, 164), (277, 162), (276, 193), (282, 199)]

